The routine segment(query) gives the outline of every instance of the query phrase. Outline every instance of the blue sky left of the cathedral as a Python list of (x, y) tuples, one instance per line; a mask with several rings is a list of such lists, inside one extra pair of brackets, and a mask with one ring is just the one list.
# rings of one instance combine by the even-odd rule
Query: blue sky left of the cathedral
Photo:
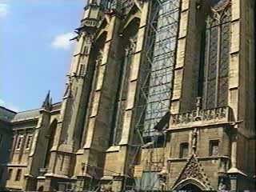
[(0, 0), (0, 106), (39, 108), (62, 100), (86, 0)]

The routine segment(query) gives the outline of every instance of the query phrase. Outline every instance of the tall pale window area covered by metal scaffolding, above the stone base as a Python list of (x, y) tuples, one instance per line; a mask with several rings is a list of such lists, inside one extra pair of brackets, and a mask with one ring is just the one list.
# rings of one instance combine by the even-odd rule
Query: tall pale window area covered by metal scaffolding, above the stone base
[(146, 62), (142, 66), (146, 78), (141, 97), (145, 102), (138, 106), (141, 115), (136, 127), (143, 137), (158, 135), (154, 127), (170, 111), (180, 13), (180, 0), (152, 3)]

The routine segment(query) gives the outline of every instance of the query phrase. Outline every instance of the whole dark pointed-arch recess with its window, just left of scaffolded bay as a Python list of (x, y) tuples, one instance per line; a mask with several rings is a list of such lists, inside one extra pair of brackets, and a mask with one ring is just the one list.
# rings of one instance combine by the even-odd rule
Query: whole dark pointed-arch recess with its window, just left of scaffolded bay
[(118, 145), (122, 138), (123, 118), (126, 110), (128, 86), (132, 63), (136, 52), (138, 29), (140, 19), (133, 18), (125, 29), (122, 30), (120, 39), (119, 63), (117, 67), (118, 86), (116, 86), (116, 98), (114, 101), (114, 114), (110, 130), (110, 146)]

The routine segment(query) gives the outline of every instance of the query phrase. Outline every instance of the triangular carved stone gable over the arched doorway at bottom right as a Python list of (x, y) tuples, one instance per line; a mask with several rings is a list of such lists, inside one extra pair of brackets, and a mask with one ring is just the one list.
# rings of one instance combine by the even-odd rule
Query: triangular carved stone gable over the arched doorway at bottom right
[(182, 174), (179, 175), (178, 180), (175, 182), (174, 186), (177, 186), (179, 182), (187, 178), (197, 179), (198, 182), (202, 183), (202, 186), (206, 186), (205, 190), (213, 190), (213, 187), (210, 185), (206, 174), (204, 173), (201, 164), (198, 162), (195, 154), (192, 154), (190, 160), (186, 163), (186, 166), (182, 170)]

